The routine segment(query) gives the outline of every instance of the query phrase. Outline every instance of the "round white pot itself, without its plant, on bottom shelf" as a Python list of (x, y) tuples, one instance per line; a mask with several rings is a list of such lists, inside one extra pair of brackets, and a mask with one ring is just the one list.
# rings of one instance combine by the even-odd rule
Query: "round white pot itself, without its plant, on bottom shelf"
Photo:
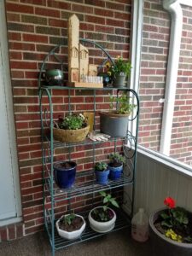
[[(96, 207), (96, 208), (102, 208), (102, 207)], [(113, 212), (113, 218), (106, 222), (99, 222), (91, 217), (91, 212), (93, 212), (96, 208), (92, 209), (88, 216), (88, 219), (90, 221), (90, 228), (98, 233), (107, 233), (113, 230), (115, 220), (116, 220), (116, 213), (111, 208), (108, 208)]]

